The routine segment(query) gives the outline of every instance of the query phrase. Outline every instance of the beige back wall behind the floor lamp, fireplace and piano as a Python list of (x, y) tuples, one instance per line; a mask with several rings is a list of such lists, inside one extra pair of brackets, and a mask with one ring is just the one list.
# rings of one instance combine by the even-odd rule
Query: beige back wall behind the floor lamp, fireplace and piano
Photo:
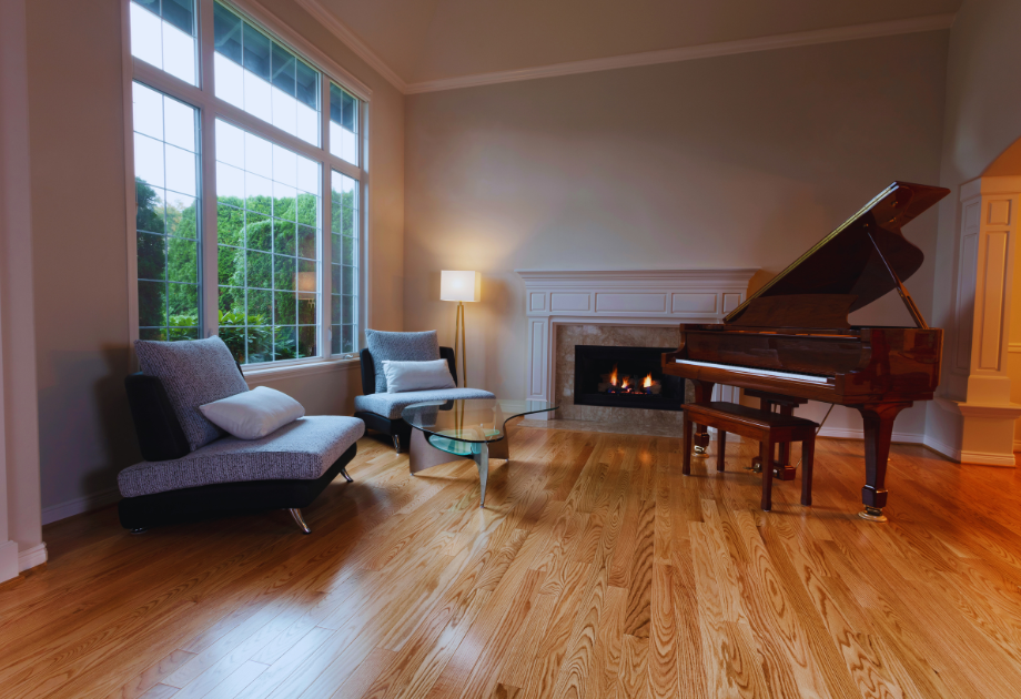
[[(439, 270), (479, 270), (468, 381), (525, 389), (515, 269), (761, 267), (894, 179), (936, 183), (947, 32), (410, 95), (404, 317), (453, 341)], [(932, 307), (937, 216), (907, 230)], [(910, 325), (899, 300), (855, 318)], [(920, 434), (924, 407), (899, 433)], [(858, 429), (857, 415), (828, 425)]]

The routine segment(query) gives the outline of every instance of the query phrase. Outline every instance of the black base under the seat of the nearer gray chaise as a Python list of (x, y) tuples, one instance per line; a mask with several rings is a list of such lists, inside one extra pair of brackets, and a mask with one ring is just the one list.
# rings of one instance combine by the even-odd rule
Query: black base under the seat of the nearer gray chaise
[[(118, 505), (121, 526), (140, 533), (152, 527), (250, 515), (267, 509), (307, 507), (337, 475), (348, 482), (346, 466), (357, 454), (352, 444), (326, 473), (314, 480), (243, 480), (125, 497)], [(292, 513), (293, 515), (293, 513)]]

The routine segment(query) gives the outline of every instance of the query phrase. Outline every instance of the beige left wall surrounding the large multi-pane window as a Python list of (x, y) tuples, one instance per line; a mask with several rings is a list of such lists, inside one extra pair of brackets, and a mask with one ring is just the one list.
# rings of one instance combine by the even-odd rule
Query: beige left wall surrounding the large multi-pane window
[[(404, 98), (291, 0), (263, 4), (373, 90), (371, 318), (403, 324)], [(129, 371), (120, 3), (28, 3), (42, 504), (83, 509), (139, 458)], [(348, 372), (273, 386), (310, 413), (346, 406)], [(84, 498), (84, 499), (82, 499)], [(58, 507), (58, 510), (53, 508)]]

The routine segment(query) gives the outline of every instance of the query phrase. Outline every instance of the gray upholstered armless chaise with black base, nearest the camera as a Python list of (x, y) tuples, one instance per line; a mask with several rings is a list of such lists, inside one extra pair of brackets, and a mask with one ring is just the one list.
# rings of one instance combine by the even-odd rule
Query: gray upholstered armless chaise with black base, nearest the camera
[(138, 343), (143, 372), (125, 385), (142, 456), (118, 476), (121, 524), (132, 530), (263, 509), (301, 508), (357, 452), (355, 417), (302, 417), (261, 439), (239, 439), (205, 419), (200, 405), (247, 391), (218, 337)]

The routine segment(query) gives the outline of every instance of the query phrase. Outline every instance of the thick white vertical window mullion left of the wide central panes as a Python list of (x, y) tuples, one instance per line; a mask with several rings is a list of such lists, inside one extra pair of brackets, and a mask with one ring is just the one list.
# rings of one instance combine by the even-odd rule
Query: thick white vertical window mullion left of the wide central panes
[(202, 110), (202, 298), (201, 323), (206, 337), (220, 332), (216, 245), (216, 143), (213, 103), (213, 0), (199, 0), (199, 65)]

